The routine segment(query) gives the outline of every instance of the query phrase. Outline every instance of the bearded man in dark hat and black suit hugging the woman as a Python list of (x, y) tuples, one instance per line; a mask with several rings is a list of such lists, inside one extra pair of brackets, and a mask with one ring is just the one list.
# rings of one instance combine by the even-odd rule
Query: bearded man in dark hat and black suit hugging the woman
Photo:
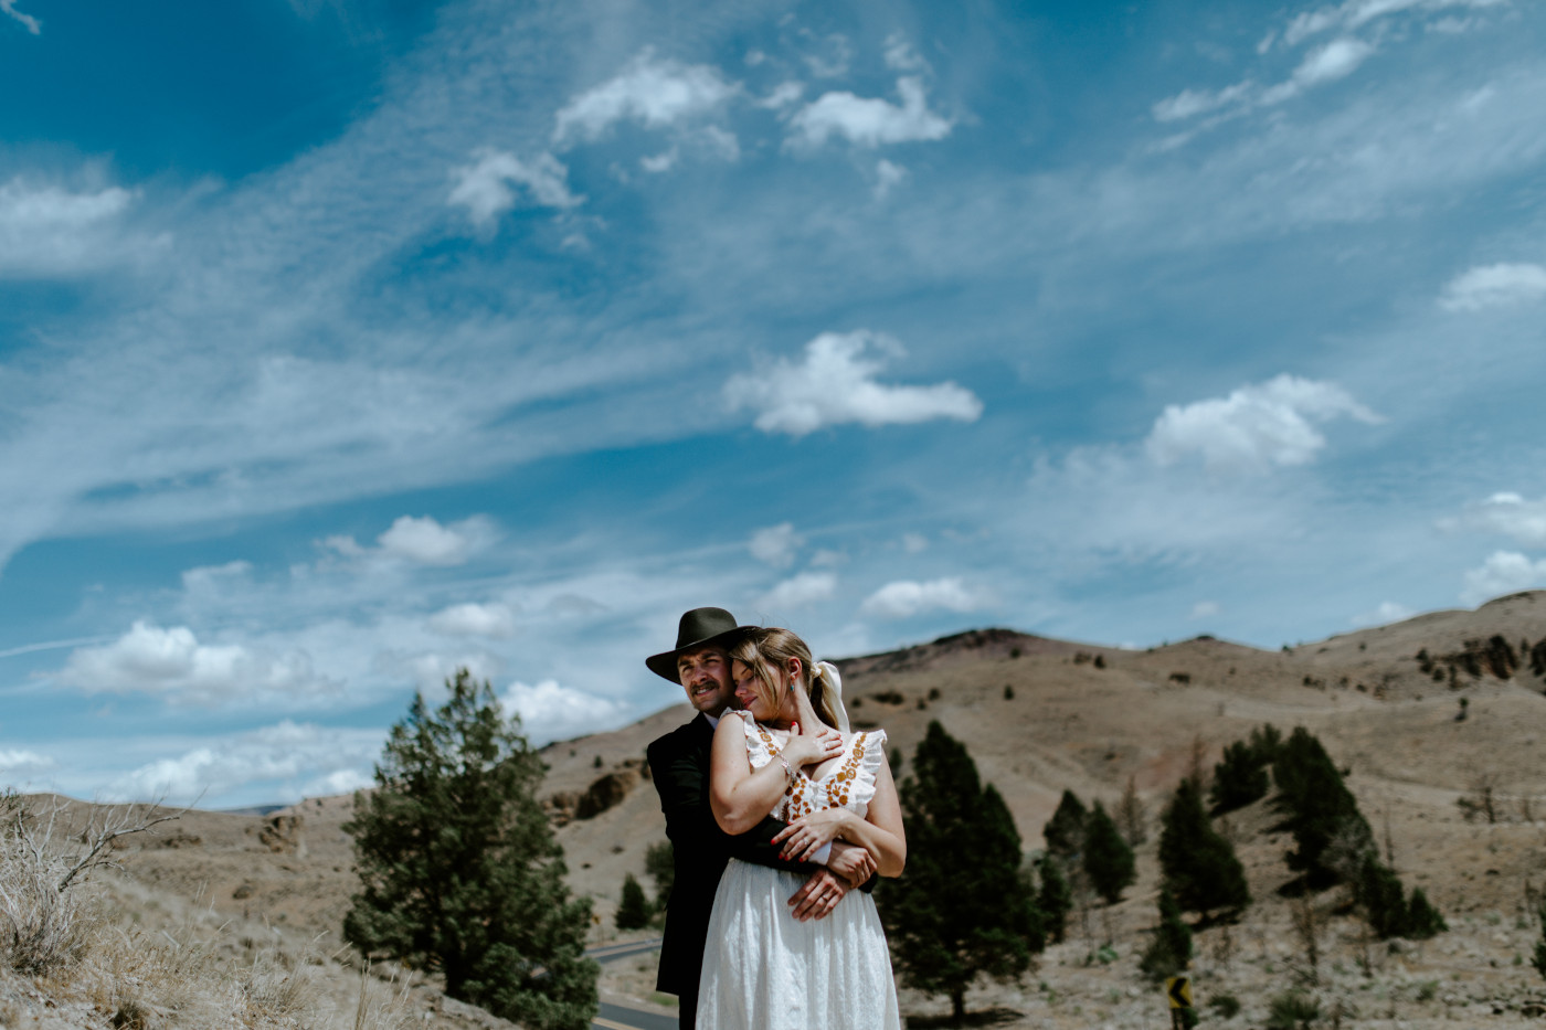
[[(680, 999), (682, 1030), (693, 1030), (697, 1018), (697, 979), (703, 968), (708, 917), (719, 877), (731, 857), (809, 872), (810, 878), (790, 899), (799, 920), (824, 917), (852, 889), (849, 880), (822, 868), (826, 854), (815, 855), (821, 860), (816, 865), (781, 860), (779, 848), (768, 843), (784, 829), (779, 820), (762, 820), (756, 829), (739, 837), (725, 834), (714, 821), (708, 806), (708, 753), (719, 716), (734, 701), (728, 648), (741, 631), (734, 616), (724, 608), (694, 608), (682, 616), (676, 648), (645, 659), (649, 671), (680, 684), (688, 704), (697, 710), (691, 722), (657, 739), (648, 752), (649, 775), (660, 793), (676, 865), (656, 990)], [(833, 841), (829, 848), (849, 846)]]

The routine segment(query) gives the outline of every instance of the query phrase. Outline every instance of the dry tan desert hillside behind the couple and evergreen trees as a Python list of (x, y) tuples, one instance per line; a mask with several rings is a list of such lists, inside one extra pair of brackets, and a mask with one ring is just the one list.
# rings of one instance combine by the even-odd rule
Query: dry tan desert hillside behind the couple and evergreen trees
[[(892, 753), (903, 756), (901, 776), (938, 719), (1003, 793), (1027, 851), (1040, 848), (1040, 827), (1065, 789), (1112, 807), (1132, 781), (1144, 801), (1149, 840), (1124, 900), (1096, 909), (1067, 943), (1050, 948), (1025, 984), (983, 985), (971, 999), (1002, 1025), (1163, 1019), (1136, 974), (1155, 923), (1158, 812), (1198, 755), (1211, 767), (1226, 744), (1265, 722), (1285, 733), (1303, 725), (1323, 741), (1402, 880), (1422, 886), (1452, 928), (1424, 945), (1374, 946), (1340, 891), (1317, 899), (1323, 957), (1313, 990), (1328, 1013), (1339, 1005), (1354, 1025), (1483, 1018), (1514, 1025), (1546, 996), (1529, 967), (1546, 880), (1546, 592), (1280, 651), (1211, 637), (1132, 651), (980, 629), (839, 667), (850, 716), (886, 730)], [(615, 937), (611, 917), (625, 874), (648, 883), (645, 851), (665, 838), (645, 747), (690, 715), (682, 704), (543, 750), (544, 798), (570, 883), (595, 899), (601, 917), (597, 943)], [(1490, 801), (1490, 821), (1483, 801)], [(147, 912), (201, 912), (247, 928), (238, 934), (247, 940), (334, 954), (352, 889), (342, 832), (349, 807), (340, 796), (264, 815), (189, 812), (121, 852), (116, 903), (139, 912), (125, 916), (135, 922)], [(1274, 823), (1263, 803), (1228, 818), (1255, 905), (1238, 925), (1198, 937), (1200, 994), (1229, 993), (1245, 1004), (1229, 1025), (1262, 1025), (1269, 994), (1308, 981), (1277, 892), (1291, 874), (1282, 860), (1289, 840)], [(1110, 954), (1091, 962), (1107, 939)], [(332, 988), (340, 1005), (349, 982)], [(651, 996), (651, 982), (652, 959), (635, 959), (608, 967), (603, 987), (638, 1005), (669, 1004)], [(945, 1008), (912, 993), (903, 1007), (914, 1024)], [(441, 1022), (424, 1025), (468, 1025), (430, 994), (416, 1002), (416, 1019), (433, 1013)]]

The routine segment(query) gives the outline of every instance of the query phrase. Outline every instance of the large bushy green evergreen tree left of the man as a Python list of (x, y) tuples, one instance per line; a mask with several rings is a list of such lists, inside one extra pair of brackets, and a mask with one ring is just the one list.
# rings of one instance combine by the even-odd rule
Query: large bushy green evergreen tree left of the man
[(597, 1011), (584, 957), (591, 902), (564, 885), (536, 801), (543, 762), (467, 670), (431, 711), (419, 694), (391, 728), (376, 790), (357, 793), (360, 891), (343, 936), (444, 976), (450, 998), (533, 1030), (583, 1030)]

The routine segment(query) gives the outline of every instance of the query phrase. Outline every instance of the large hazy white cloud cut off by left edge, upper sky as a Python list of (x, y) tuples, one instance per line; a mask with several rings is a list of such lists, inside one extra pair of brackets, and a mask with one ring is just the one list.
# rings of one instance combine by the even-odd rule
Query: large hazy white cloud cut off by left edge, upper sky
[(119, 235), (133, 200), (117, 186), (70, 192), (19, 178), (0, 184), (0, 275), (74, 275), (114, 263), (133, 249)]

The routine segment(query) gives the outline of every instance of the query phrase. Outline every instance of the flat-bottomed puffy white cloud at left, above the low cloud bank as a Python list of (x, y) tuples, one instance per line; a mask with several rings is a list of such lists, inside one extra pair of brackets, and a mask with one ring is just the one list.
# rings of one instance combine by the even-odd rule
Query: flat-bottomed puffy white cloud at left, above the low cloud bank
[(150, 694), (182, 705), (315, 697), (339, 685), (305, 651), (199, 643), (187, 626), (136, 622), (105, 646), (77, 648), (57, 680), (88, 693)]

